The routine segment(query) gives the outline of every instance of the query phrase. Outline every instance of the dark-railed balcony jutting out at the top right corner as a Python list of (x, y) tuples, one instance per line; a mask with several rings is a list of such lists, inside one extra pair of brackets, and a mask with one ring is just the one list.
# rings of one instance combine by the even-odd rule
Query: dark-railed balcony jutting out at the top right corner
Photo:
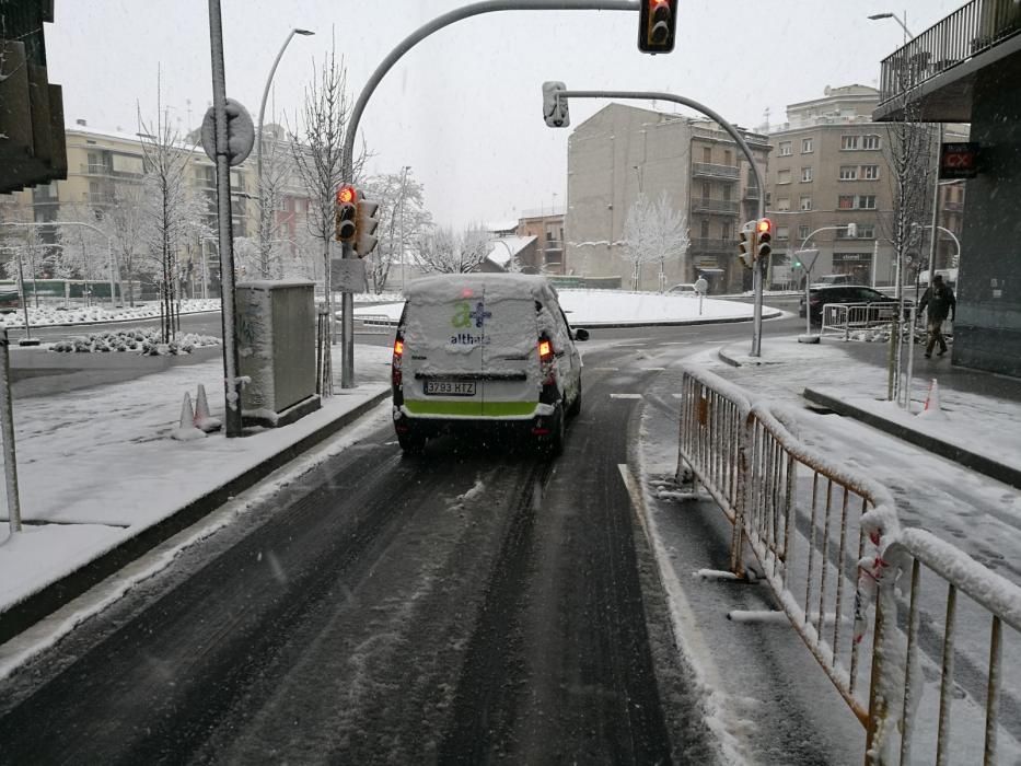
[(972, 0), (883, 59), (878, 121), (904, 118), (910, 103), (923, 123), (970, 123), (979, 71), (1021, 58), (1021, 4)]

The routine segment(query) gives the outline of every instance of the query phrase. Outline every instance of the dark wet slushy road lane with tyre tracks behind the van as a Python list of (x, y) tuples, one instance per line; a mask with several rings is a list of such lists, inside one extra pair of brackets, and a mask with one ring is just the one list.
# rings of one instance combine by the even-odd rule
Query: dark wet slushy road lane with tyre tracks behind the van
[(552, 464), (402, 459), (381, 413), (13, 678), (0, 759), (711, 761), (618, 471), (635, 355), (593, 348)]

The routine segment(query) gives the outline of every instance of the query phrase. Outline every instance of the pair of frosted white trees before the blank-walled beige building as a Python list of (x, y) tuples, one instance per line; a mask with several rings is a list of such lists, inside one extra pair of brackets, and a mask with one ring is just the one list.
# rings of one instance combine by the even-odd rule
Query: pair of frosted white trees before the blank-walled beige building
[(666, 262), (683, 259), (688, 244), (687, 219), (673, 207), (666, 192), (655, 201), (639, 195), (624, 221), (624, 258), (634, 265), (631, 289), (638, 290), (641, 285), (643, 264), (659, 264), (662, 290)]

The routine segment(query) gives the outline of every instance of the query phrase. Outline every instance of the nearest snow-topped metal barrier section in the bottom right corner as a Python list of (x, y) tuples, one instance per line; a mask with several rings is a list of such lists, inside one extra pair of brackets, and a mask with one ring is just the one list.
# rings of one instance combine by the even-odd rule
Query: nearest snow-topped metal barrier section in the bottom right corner
[(880, 562), (871, 759), (1021, 763), (1021, 588), (925, 530)]

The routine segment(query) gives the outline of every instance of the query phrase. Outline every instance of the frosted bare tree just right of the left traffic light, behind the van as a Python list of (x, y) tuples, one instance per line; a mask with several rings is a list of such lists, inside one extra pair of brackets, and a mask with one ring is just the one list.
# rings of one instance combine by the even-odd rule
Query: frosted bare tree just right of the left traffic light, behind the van
[(391, 269), (401, 268), (402, 258), (414, 248), (432, 217), (424, 208), (422, 185), (407, 171), (372, 176), (363, 189), (380, 204), (375, 230), (380, 242), (366, 259), (369, 282), (373, 292), (380, 293), (386, 289)]

